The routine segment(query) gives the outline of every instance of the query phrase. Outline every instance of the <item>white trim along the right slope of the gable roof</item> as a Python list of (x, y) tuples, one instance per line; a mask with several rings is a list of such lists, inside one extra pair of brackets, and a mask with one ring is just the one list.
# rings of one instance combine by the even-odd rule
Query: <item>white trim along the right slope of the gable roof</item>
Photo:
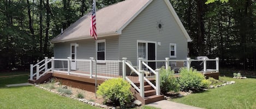
[(182, 24), (180, 18), (178, 17), (177, 13), (175, 12), (174, 10), (174, 7), (172, 7), (171, 3), (169, 0), (164, 0), (165, 3), (167, 4), (168, 8), (170, 9), (171, 11), (171, 14), (174, 16), (176, 22), (178, 23), (178, 25), (180, 26), (183, 34), (185, 35), (185, 37), (187, 38), (187, 41), (188, 42), (192, 42), (191, 38), (189, 37), (188, 33), (187, 33), (187, 30), (184, 28), (184, 25)]

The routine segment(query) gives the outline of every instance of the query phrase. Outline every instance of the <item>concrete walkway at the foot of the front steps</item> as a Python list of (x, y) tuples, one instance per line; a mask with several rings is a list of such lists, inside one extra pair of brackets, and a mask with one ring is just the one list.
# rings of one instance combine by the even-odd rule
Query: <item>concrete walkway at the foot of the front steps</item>
[(162, 109), (172, 109), (172, 108), (175, 108), (175, 109), (203, 109), (203, 108), (199, 108), (199, 107), (180, 104), (177, 102), (172, 102), (169, 100), (153, 102), (151, 104), (147, 104), (147, 106), (153, 106), (153, 107), (162, 108)]

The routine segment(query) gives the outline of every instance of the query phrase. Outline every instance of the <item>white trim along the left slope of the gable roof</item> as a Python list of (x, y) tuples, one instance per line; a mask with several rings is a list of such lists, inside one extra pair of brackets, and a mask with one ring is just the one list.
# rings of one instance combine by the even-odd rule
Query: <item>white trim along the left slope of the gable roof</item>
[(149, 0), (139, 11), (137, 11), (126, 23), (122, 25), (120, 29), (118, 29), (116, 32), (117, 34), (122, 34), (122, 30), (126, 28), (126, 26), (134, 20), (135, 17), (137, 17), (140, 12), (142, 12), (153, 0)]

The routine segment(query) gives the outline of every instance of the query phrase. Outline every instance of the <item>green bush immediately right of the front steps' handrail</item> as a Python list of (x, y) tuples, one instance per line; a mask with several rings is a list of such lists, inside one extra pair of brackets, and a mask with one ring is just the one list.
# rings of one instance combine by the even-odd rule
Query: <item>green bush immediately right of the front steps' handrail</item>
[(170, 91), (178, 92), (180, 85), (177, 78), (174, 77), (174, 70), (166, 70), (164, 67), (160, 68), (160, 89), (161, 93), (166, 94)]

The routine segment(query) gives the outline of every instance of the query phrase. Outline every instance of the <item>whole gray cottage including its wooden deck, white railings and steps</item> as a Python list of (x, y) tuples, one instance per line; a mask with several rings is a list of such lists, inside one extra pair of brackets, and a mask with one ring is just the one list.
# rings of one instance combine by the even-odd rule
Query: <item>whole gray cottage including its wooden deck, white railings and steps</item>
[[(123, 78), (133, 86), (135, 99), (148, 104), (163, 99), (158, 68), (190, 68), (193, 60), (186, 57), (192, 40), (169, 0), (126, 0), (96, 15), (98, 40), (90, 36), (88, 13), (51, 40), (54, 57), (31, 65), (29, 82), (55, 76), (62, 84), (95, 92), (94, 81)], [(206, 59), (200, 61), (206, 73)], [(218, 58), (207, 61), (216, 61), (211, 72), (218, 72)]]

